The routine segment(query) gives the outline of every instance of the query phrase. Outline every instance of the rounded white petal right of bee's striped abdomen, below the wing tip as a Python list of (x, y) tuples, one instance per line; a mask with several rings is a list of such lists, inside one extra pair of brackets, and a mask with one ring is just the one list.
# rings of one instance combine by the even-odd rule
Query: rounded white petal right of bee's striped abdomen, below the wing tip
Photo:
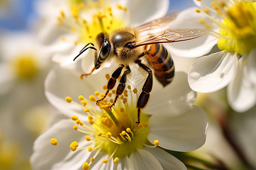
[(218, 52), (197, 59), (188, 71), (188, 83), (197, 92), (214, 92), (227, 86), (234, 78), (237, 57)]

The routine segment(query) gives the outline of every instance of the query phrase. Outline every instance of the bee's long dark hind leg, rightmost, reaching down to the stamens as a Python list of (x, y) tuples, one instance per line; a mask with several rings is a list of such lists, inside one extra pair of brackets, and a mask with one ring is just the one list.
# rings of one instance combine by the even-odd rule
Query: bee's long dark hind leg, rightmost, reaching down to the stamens
[(142, 87), (142, 92), (141, 95), (139, 95), (139, 99), (137, 101), (137, 114), (138, 114), (138, 121), (136, 122), (137, 124), (140, 123), (140, 118), (141, 118), (141, 109), (144, 109), (148, 103), (148, 100), (150, 98), (150, 92), (152, 90), (153, 86), (153, 75), (152, 75), (152, 70), (148, 68), (146, 65), (141, 63), (141, 61), (137, 61), (138, 65), (142, 67), (143, 70), (147, 71), (148, 76), (147, 79)]

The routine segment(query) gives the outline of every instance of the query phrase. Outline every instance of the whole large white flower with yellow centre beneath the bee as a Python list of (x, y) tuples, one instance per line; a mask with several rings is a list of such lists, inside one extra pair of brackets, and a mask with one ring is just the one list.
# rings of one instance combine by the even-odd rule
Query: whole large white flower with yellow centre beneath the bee
[[(101, 96), (98, 91), (105, 84), (105, 78), (100, 79), (104, 73), (100, 71), (84, 80), (78, 77), (76, 71), (57, 67), (46, 79), (49, 102), (67, 118), (56, 122), (36, 140), (31, 157), (34, 169), (186, 169), (174, 156), (156, 146), (192, 151), (204, 144), (207, 116), (192, 104), (196, 93), (189, 88), (186, 74), (176, 73), (174, 81), (164, 89), (154, 82), (151, 100), (142, 110), (139, 125), (135, 124), (137, 93), (131, 86), (109, 112), (95, 107), (95, 96)], [(96, 92), (89, 96), (92, 91)], [(67, 95), (79, 96), (80, 101), (67, 97), (71, 101), (67, 103)], [(90, 101), (80, 95), (89, 96)], [(108, 101), (103, 102), (102, 108), (109, 105)], [(73, 125), (77, 131), (72, 129)], [(51, 145), (51, 138), (57, 139), (57, 146)], [(69, 145), (77, 151), (71, 152)]]

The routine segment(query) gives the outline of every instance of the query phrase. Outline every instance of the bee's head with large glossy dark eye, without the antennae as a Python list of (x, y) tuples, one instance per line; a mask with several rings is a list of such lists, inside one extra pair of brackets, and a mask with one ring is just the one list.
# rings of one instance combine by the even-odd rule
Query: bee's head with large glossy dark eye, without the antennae
[(108, 36), (105, 33), (99, 33), (95, 39), (96, 53), (94, 59), (95, 69), (101, 66), (101, 63), (108, 58), (111, 50), (111, 44), (108, 40)]

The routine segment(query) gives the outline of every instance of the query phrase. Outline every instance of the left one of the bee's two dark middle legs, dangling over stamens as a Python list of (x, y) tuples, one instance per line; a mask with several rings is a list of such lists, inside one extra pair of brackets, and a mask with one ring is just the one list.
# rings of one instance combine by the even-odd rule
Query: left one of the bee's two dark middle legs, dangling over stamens
[(117, 70), (114, 71), (114, 73), (112, 74), (112, 76), (109, 78), (108, 80), (108, 85), (107, 85), (107, 91), (104, 95), (104, 97), (102, 97), (102, 99), (97, 100), (96, 104), (98, 105), (98, 103), (100, 101), (102, 101), (103, 99), (106, 98), (106, 96), (109, 94), (109, 91), (112, 90), (112, 88), (114, 88), (115, 86), (115, 82), (117, 82), (117, 78), (120, 76), (122, 69), (123, 69), (124, 65), (120, 65)]

